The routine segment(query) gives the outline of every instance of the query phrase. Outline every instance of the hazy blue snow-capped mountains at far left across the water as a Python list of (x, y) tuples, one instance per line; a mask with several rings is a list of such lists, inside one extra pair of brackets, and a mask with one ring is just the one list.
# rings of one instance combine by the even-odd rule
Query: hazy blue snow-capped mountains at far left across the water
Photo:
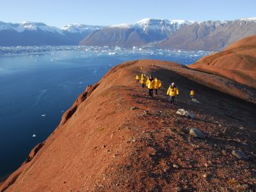
[(24, 21), (4, 23), (0, 21), (0, 46), (63, 46), (78, 45), (79, 42), (102, 26), (68, 24), (63, 28), (47, 26), (45, 23)]

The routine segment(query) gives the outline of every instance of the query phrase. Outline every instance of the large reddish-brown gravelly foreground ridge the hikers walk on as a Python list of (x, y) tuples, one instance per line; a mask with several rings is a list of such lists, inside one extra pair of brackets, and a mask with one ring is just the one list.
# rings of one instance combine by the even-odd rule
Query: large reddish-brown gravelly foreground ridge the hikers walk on
[[(140, 66), (163, 80), (159, 97), (147, 97), (136, 84)], [(165, 94), (173, 81), (180, 96), (171, 107)], [(87, 87), (0, 191), (253, 191), (255, 92), (245, 90), (249, 103), (205, 85), (239, 90), (230, 80), (175, 63), (118, 65)], [(188, 103), (191, 89), (199, 104)], [(178, 108), (195, 118), (178, 116)], [(193, 127), (206, 139), (188, 137)], [(237, 149), (249, 160), (232, 156)]]

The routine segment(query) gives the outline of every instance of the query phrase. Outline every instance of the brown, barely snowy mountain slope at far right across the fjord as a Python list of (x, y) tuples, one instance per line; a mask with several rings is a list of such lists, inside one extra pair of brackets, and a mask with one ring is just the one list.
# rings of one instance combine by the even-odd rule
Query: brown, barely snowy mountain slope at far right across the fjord
[(158, 46), (188, 50), (222, 50), (230, 43), (255, 33), (255, 21), (203, 21), (183, 26)]

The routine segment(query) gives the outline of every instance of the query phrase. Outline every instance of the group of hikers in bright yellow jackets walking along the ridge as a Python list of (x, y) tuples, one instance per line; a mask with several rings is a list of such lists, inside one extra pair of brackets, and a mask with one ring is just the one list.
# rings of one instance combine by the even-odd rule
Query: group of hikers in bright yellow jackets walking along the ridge
[[(141, 67), (142, 71), (142, 67)], [(146, 87), (149, 90), (149, 96), (153, 97), (153, 95), (157, 96), (157, 90), (159, 90), (162, 86), (161, 80), (158, 77), (153, 78), (152, 75), (146, 77), (146, 74), (136, 75), (136, 82), (142, 84), (142, 88)], [(175, 104), (175, 99), (178, 96), (178, 87), (176, 87), (175, 83), (172, 82), (169, 85), (169, 88), (166, 92), (166, 95), (170, 96), (171, 105)], [(193, 100), (195, 92), (191, 90), (190, 92), (190, 101)]]

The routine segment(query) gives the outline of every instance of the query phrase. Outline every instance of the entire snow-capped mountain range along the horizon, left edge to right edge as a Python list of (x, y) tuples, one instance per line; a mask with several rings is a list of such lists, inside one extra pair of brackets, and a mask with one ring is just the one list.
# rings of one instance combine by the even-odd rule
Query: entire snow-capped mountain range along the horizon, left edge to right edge
[(156, 46), (184, 50), (221, 50), (256, 34), (256, 18), (234, 21), (185, 21), (144, 18), (111, 26), (0, 22), (0, 46)]

